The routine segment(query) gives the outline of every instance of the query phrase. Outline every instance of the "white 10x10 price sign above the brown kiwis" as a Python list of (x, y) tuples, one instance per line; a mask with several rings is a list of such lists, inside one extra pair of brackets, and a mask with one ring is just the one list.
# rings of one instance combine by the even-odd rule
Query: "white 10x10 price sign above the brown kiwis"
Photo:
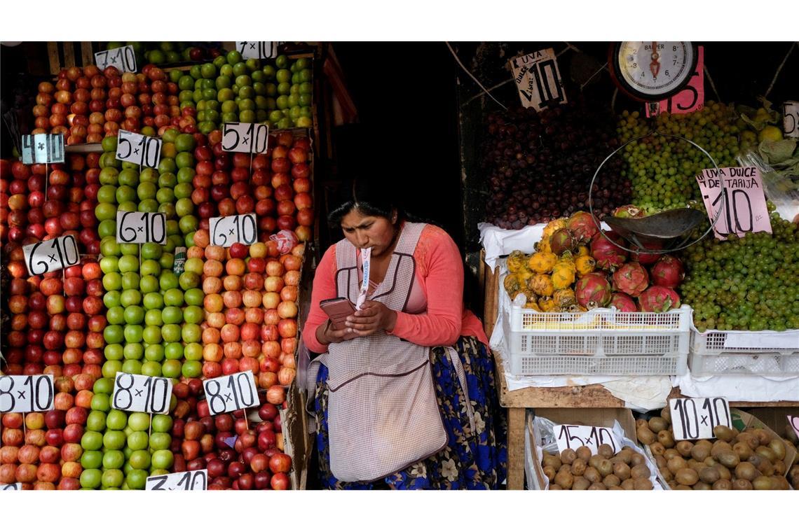
[(694, 397), (669, 400), (674, 439), (713, 439), (718, 425), (732, 428), (729, 403), (724, 397)]

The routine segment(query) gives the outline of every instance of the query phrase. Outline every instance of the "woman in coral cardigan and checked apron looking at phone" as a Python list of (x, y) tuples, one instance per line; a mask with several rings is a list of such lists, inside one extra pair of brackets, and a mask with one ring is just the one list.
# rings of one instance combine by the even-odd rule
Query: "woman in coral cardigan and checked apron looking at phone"
[(303, 329), (324, 353), (308, 377), (320, 482), (495, 489), (505, 420), (482, 324), (463, 308), (460, 252), (439, 227), (407, 219), (379, 182), (356, 180), (331, 212), (345, 238), (316, 268)]

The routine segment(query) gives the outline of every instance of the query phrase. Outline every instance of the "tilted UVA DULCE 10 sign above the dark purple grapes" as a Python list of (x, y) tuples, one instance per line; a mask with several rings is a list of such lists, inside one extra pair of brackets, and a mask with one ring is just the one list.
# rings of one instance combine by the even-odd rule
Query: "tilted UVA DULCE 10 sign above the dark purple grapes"
[(515, 57), (511, 59), (511, 70), (523, 107), (540, 111), (568, 101), (554, 49)]

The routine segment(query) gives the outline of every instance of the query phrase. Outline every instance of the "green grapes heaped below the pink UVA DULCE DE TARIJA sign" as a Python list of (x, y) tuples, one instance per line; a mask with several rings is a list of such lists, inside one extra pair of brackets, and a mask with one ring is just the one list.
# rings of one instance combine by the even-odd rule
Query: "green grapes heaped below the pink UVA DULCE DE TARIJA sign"
[(700, 331), (799, 329), (799, 226), (771, 215), (773, 234), (712, 236), (682, 255), (682, 301)]

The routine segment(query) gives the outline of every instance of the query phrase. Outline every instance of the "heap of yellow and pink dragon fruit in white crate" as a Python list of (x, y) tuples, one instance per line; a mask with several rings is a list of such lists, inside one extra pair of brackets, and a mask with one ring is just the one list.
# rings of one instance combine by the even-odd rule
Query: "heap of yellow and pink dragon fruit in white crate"
[(674, 289), (682, 282), (682, 262), (671, 255), (630, 257), (617, 243), (625, 245), (613, 231), (600, 233), (586, 212), (556, 219), (544, 227), (535, 253), (511, 253), (504, 288), (511, 299), (524, 294), (525, 308), (543, 312), (613, 306), (622, 312), (660, 313), (678, 308)]

